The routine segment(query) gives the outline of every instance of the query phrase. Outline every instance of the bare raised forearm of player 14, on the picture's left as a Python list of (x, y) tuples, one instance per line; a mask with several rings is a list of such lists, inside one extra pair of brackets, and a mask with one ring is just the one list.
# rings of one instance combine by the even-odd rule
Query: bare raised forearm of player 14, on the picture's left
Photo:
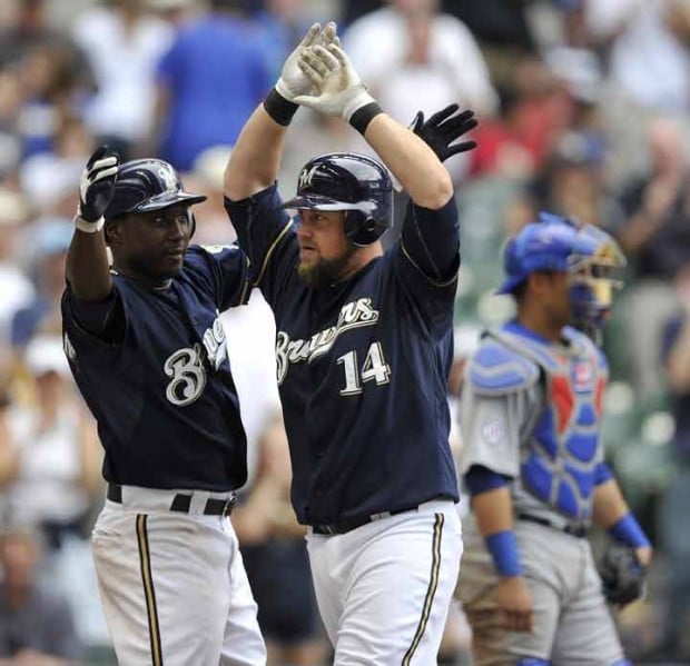
[(259, 105), (233, 148), (225, 170), (225, 195), (239, 201), (272, 185), (278, 175), (287, 128)]

